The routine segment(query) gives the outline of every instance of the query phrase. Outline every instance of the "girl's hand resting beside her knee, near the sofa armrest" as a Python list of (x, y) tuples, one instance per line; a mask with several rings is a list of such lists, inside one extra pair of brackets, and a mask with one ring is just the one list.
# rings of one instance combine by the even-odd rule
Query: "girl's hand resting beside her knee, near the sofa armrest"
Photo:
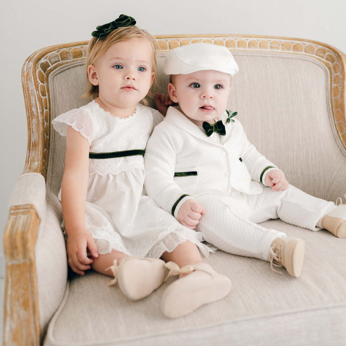
[(90, 269), (90, 264), (94, 261), (86, 255), (86, 249), (89, 249), (93, 257), (98, 257), (97, 245), (94, 238), (86, 230), (76, 230), (67, 236), (66, 252), (71, 269), (84, 275), (84, 270)]

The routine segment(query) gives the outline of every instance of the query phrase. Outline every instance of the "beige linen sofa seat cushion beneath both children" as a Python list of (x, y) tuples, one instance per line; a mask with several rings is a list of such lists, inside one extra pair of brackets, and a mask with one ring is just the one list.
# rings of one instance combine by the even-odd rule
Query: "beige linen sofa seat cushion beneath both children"
[[(133, 302), (104, 275), (75, 276), (49, 325), (52, 345), (343, 345), (346, 335), (345, 242), (270, 220), (261, 224), (289, 236), (305, 232), (306, 254), (299, 279), (255, 258), (217, 251), (204, 262), (232, 282), (229, 295), (177, 319), (164, 318), (160, 301), (169, 278), (149, 297)], [(111, 321), (111, 322), (110, 322)], [(88, 326), (88, 327), (86, 327)], [(134, 327), (135, 326), (135, 327)], [(311, 334), (310, 334), (311, 333)], [(203, 337), (202, 337), (203, 336)], [(323, 341), (329, 343), (323, 344)], [(316, 342), (316, 343), (315, 343)]]

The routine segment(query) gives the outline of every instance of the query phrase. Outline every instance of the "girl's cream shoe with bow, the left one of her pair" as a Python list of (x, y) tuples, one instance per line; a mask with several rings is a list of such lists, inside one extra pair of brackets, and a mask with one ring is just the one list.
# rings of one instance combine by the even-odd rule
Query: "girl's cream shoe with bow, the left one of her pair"
[(142, 299), (152, 293), (161, 286), (166, 276), (165, 262), (158, 258), (125, 257), (119, 261), (119, 265), (114, 260), (107, 269), (114, 275), (108, 285), (118, 282), (121, 292), (132, 300)]

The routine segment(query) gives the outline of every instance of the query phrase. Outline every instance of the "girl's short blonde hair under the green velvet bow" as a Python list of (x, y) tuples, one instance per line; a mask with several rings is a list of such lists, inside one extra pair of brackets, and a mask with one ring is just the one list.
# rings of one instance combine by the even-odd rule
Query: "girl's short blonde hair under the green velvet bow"
[[(155, 37), (149, 34), (146, 30), (139, 29), (136, 26), (130, 26), (130, 27), (121, 27), (118, 29), (113, 30), (110, 34), (108, 34), (103, 39), (98, 39), (96, 37), (93, 37), (88, 47), (86, 48), (86, 60), (85, 60), (85, 70), (86, 70), (86, 92), (82, 95), (82, 99), (87, 99), (92, 97), (93, 99), (97, 98), (99, 95), (99, 86), (93, 85), (89, 81), (88, 76), (88, 66), (89, 65), (95, 65), (98, 58), (107, 51), (109, 47), (111, 47), (113, 44), (117, 42), (124, 42), (124, 41), (130, 41), (135, 39), (141, 39), (145, 38), (149, 41), (151, 47), (152, 47), (152, 70), (155, 73), (156, 72), (156, 50), (158, 49)], [(156, 76), (154, 75), (154, 85), (157, 84), (156, 82)], [(148, 106), (149, 102), (148, 99), (152, 98), (153, 95), (151, 91), (148, 92), (146, 97), (142, 100), (143, 104), (145, 106)]]

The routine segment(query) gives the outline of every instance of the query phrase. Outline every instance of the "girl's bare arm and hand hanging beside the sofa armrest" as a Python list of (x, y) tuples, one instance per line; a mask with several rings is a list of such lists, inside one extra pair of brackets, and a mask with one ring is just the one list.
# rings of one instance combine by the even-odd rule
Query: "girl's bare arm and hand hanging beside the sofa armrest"
[(65, 170), (62, 180), (61, 206), (67, 234), (66, 251), (72, 270), (83, 275), (90, 269), (92, 259), (87, 257), (89, 248), (98, 257), (93, 237), (85, 228), (85, 201), (89, 180), (88, 139), (71, 126), (66, 134)]

